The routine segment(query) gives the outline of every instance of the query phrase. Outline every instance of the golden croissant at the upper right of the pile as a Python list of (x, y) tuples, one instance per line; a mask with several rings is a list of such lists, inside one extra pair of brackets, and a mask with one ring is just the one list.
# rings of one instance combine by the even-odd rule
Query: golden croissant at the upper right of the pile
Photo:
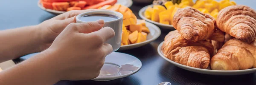
[(222, 9), (217, 16), (221, 31), (244, 42), (256, 39), (256, 11), (248, 6), (234, 5)]

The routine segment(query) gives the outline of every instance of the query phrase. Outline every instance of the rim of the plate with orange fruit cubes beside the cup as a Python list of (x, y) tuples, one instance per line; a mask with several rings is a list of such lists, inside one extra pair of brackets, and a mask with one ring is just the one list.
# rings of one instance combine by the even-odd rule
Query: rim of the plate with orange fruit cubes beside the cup
[[(140, 19), (137, 19), (137, 20), (140, 20)], [(135, 43), (135, 44), (122, 45), (122, 46), (120, 46), (120, 48), (126, 48), (126, 47), (130, 47), (130, 46), (144, 44), (144, 43), (150, 43), (150, 42), (156, 40), (158, 37), (160, 37), (161, 30), (160, 30), (160, 28), (158, 26), (156, 26), (156, 25), (154, 25), (152, 23), (149, 23), (148, 21), (146, 21), (146, 25), (154, 26), (152, 29), (156, 30), (156, 32), (158, 32), (158, 34), (157, 35), (153, 35), (153, 37), (151, 39), (149, 39), (149, 40), (146, 40), (146, 41), (143, 41), (143, 42), (140, 42), (140, 43)]]

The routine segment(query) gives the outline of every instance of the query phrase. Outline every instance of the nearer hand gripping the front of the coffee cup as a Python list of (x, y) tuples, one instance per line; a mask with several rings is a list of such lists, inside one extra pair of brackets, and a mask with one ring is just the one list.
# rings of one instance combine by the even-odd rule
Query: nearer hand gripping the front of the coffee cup
[(103, 20), (89, 23), (71, 23), (54, 40), (47, 51), (60, 67), (61, 80), (93, 79), (99, 76), (106, 55), (112, 46), (104, 43), (114, 36), (112, 28)]

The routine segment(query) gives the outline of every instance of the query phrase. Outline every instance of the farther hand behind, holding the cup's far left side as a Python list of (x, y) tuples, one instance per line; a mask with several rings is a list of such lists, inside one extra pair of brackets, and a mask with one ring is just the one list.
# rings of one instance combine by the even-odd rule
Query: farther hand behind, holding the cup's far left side
[(40, 50), (43, 51), (47, 49), (55, 38), (67, 27), (70, 23), (76, 23), (74, 18), (76, 15), (87, 12), (94, 11), (99, 9), (87, 9), (87, 10), (74, 10), (68, 11), (64, 14), (60, 14), (52, 19), (46, 20), (43, 23), (38, 25), (38, 34), (40, 34), (40, 39), (42, 45), (40, 45)]

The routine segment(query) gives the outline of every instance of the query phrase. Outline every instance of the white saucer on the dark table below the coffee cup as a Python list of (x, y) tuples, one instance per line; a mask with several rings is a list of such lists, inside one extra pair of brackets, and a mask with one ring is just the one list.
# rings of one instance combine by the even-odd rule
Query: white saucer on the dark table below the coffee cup
[(95, 81), (110, 81), (135, 74), (142, 67), (140, 59), (129, 54), (113, 52), (105, 58), (105, 63)]

